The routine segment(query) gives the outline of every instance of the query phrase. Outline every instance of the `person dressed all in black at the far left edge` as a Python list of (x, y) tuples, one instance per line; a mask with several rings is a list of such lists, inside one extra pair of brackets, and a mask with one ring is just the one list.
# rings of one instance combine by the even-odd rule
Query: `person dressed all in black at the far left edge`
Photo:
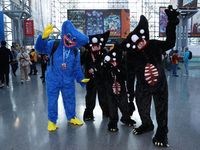
[(4, 76), (6, 76), (6, 85), (9, 88), (9, 64), (12, 63), (13, 56), (11, 51), (6, 48), (6, 41), (1, 41), (0, 48), (0, 88), (4, 87)]

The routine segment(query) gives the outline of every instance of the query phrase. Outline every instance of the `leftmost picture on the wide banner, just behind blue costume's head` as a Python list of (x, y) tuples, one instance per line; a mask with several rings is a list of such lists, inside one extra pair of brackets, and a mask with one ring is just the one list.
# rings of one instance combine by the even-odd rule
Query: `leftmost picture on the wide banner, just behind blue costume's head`
[(85, 11), (84, 10), (74, 10), (68, 12), (68, 20), (72, 22), (74, 27), (85, 34)]

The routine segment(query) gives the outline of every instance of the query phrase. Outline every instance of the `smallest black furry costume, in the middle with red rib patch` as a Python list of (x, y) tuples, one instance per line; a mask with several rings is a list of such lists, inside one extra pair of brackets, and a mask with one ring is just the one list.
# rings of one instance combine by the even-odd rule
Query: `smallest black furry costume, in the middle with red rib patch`
[(107, 73), (104, 75), (106, 92), (108, 96), (108, 110), (110, 122), (108, 124), (109, 131), (118, 131), (117, 122), (118, 107), (122, 112), (121, 122), (128, 126), (136, 124), (130, 118), (129, 104), (125, 87), (126, 69), (121, 62), (122, 51), (115, 48), (108, 52), (104, 59), (104, 66), (107, 68)]

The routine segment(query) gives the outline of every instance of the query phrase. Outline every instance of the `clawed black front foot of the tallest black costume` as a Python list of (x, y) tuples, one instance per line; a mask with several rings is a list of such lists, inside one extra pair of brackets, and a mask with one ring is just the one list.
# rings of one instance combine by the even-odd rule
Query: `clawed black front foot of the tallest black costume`
[(167, 134), (156, 133), (155, 137), (153, 138), (153, 144), (155, 146), (169, 147)]

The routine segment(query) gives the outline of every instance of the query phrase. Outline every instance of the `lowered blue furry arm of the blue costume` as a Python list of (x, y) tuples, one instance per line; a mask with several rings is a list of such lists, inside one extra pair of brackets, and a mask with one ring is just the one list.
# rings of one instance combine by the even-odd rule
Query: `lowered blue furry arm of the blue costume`
[(73, 64), (73, 72), (76, 78), (76, 81), (81, 84), (82, 87), (86, 85), (86, 83), (82, 83), (81, 80), (85, 79), (83, 72), (81, 70), (81, 63), (80, 63), (80, 53), (79, 49), (77, 48), (77, 56), (75, 56), (75, 61)]

